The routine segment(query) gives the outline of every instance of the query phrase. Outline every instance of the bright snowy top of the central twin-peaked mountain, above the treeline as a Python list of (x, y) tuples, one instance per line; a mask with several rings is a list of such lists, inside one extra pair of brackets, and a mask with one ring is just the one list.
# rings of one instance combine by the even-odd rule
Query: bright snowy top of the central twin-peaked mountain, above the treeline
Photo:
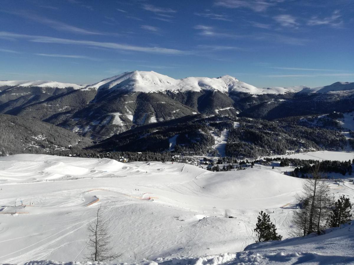
[(161, 75), (154, 71), (133, 71), (124, 72), (110, 78), (106, 78), (98, 83), (91, 84), (88, 87), (98, 90), (120, 90), (124, 92), (186, 92), (201, 90), (218, 90), (223, 93), (244, 92), (252, 95), (260, 94), (284, 94), (287, 92), (298, 92), (305, 88), (300, 87), (273, 87), (257, 88), (250, 84), (239, 81), (233, 76), (225, 75), (218, 78), (209, 77), (186, 77), (174, 79), (172, 77)]

